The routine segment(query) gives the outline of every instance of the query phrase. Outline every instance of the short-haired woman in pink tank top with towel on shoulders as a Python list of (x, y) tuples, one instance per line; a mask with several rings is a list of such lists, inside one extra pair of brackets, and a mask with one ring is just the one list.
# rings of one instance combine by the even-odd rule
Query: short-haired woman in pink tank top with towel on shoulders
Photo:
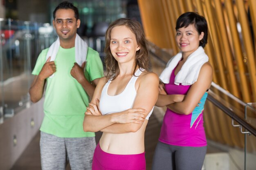
[(203, 110), (213, 69), (203, 47), (207, 21), (187, 12), (177, 19), (175, 40), (180, 53), (160, 75), (156, 106), (167, 106), (152, 170), (201, 170), (207, 141)]

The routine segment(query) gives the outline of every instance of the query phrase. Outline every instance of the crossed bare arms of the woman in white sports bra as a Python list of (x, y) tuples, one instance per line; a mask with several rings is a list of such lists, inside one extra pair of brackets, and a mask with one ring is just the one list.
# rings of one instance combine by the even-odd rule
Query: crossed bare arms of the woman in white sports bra
[(85, 113), (83, 121), (84, 131), (97, 132), (101, 130), (102, 132), (110, 133), (137, 132), (157, 101), (159, 83), (155, 73), (146, 73), (139, 78), (139, 88), (132, 108), (108, 115), (101, 115), (99, 106), (97, 106), (99, 105), (97, 104), (97, 99), (100, 98), (101, 90), (106, 83), (106, 79), (101, 79), (95, 89), (90, 107), (88, 107)]

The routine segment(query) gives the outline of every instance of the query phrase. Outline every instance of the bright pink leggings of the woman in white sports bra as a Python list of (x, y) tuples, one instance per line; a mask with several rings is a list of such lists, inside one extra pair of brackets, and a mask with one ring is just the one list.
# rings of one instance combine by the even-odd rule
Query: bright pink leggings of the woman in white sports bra
[(135, 155), (116, 155), (104, 152), (96, 146), (92, 170), (146, 170), (145, 152)]

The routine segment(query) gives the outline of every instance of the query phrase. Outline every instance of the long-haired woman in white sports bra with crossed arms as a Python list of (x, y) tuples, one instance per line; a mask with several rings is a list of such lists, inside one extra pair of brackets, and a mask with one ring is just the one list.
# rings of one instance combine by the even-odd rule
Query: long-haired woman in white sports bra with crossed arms
[(102, 131), (92, 170), (146, 170), (144, 132), (157, 101), (159, 79), (148, 72), (139, 22), (118, 19), (106, 32), (107, 75), (85, 113), (84, 131)]

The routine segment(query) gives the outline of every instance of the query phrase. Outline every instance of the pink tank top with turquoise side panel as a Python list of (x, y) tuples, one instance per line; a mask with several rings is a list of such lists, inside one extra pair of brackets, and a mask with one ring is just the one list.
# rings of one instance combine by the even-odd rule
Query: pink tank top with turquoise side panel
[[(175, 85), (175, 68), (171, 73), (170, 83), (165, 84), (166, 93), (186, 95), (190, 86)], [(159, 141), (175, 146), (207, 146), (207, 140), (204, 132), (203, 107), (207, 97), (204, 94), (200, 100), (201, 104), (189, 115), (182, 115), (166, 110), (160, 132)]]

